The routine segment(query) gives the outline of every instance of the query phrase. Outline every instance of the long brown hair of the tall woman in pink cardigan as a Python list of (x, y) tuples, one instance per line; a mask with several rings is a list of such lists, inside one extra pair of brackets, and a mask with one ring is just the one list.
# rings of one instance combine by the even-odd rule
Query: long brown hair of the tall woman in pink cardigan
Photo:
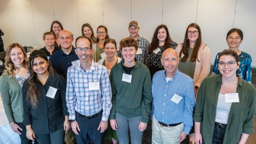
[[(194, 43), (194, 48), (190, 57), (190, 61), (191, 62), (195, 62), (197, 59), (197, 54), (199, 51), (199, 48), (202, 44), (202, 34), (201, 34), (201, 29), (200, 27), (196, 24), (196, 23), (191, 23), (187, 26), (187, 30), (189, 27), (194, 27), (198, 30), (198, 38), (197, 38), (197, 42)], [(184, 37), (184, 41), (182, 43), (182, 48), (181, 48), (181, 52), (179, 53), (179, 58), (181, 58), (181, 54), (183, 53), (184, 56), (183, 58), (181, 58), (181, 62), (186, 62), (187, 61), (187, 57), (188, 57), (188, 51), (187, 48), (190, 47), (190, 43), (189, 43), (189, 39), (187, 37), (187, 30), (185, 32), (185, 37)], [(199, 60), (197, 59), (197, 61), (199, 62)]]

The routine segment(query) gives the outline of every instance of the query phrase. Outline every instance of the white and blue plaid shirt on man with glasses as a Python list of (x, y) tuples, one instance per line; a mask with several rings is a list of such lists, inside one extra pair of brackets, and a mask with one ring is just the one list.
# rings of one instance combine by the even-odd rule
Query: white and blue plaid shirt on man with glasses
[[(100, 82), (100, 90), (89, 91), (89, 82)], [(69, 67), (67, 73), (66, 101), (69, 120), (75, 120), (75, 111), (85, 116), (102, 113), (107, 121), (112, 107), (112, 91), (107, 68), (92, 60), (86, 72), (80, 65)]]

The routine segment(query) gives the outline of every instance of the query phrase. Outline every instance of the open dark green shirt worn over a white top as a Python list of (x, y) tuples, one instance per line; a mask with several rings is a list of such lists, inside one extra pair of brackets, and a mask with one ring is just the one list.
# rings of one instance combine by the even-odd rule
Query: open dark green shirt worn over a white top
[[(210, 76), (203, 80), (197, 93), (193, 119), (195, 122), (201, 122), (200, 131), (205, 144), (212, 144), (216, 107), (221, 85), (221, 75)], [(253, 133), (256, 89), (238, 76), (236, 92), (238, 92), (240, 102), (233, 102), (231, 105), (223, 144), (237, 144), (242, 133)]]

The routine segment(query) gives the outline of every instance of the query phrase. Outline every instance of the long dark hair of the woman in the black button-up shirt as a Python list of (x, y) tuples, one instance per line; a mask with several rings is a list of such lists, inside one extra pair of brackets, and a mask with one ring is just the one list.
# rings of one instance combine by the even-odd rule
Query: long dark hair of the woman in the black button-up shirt
[(28, 90), (27, 90), (27, 101), (29, 101), (29, 104), (35, 108), (37, 107), (37, 102), (39, 100), (39, 93), (40, 90), (39, 86), (37, 85), (38, 79), (37, 79), (37, 73), (35, 73), (33, 71), (33, 63), (34, 63), (34, 59), (35, 58), (43, 58), (46, 62), (48, 62), (48, 72), (49, 72), (49, 79), (51, 79), (55, 74), (55, 70), (52, 66), (52, 64), (50, 63), (50, 61), (48, 61), (48, 58), (46, 56), (46, 54), (43, 51), (40, 50), (34, 50), (29, 57), (29, 74), (30, 77), (27, 79), (28, 82)]

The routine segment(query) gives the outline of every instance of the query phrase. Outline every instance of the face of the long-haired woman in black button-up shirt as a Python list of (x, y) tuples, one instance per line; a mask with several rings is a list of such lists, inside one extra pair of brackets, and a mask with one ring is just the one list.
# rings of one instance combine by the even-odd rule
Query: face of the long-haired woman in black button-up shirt
[(45, 75), (48, 74), (48, 65), (48, 61), (41, 57), (37, 57), (34, 59), (32, 69), (37, 75)]

